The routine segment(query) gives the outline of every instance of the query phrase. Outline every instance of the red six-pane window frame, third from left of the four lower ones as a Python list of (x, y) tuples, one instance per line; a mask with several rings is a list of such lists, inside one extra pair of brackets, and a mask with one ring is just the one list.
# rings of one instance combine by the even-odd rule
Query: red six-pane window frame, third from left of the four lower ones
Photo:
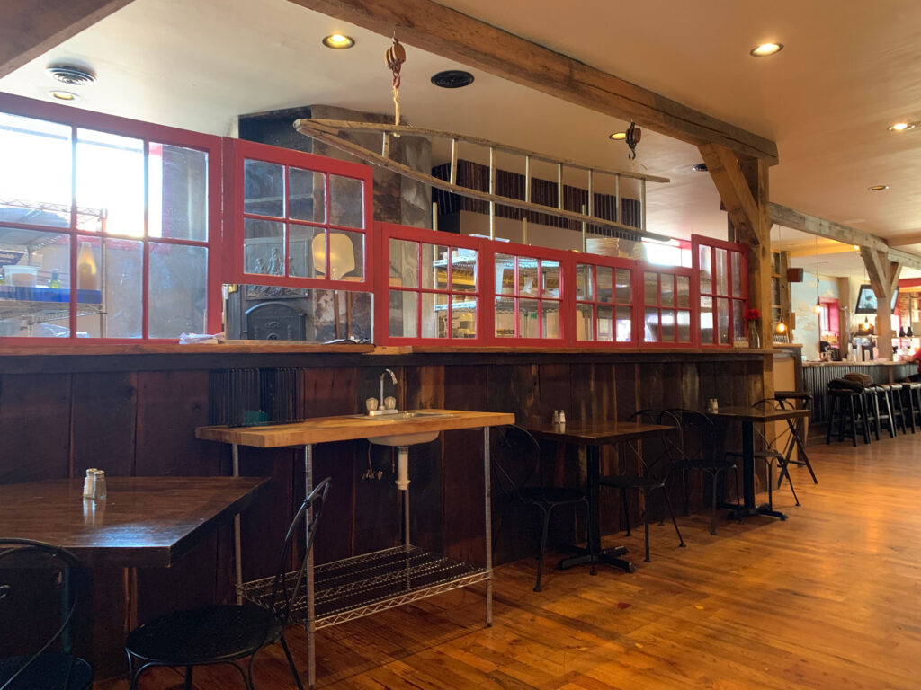
[[(573, 314), (569, 323), (569, 332), (572, 334), (572, 341), (570, 344), (576, 347), (589, 347), (589, 348), (625, 348), (625, 347), (635, 347), (638, 342), (638, 329), (636, 324), (636, 272), (639, 270), (639, 265), (636, 261), (631, 259), (615, 259), (611, 257), (602, 257), (595, 254), (576, 254), (573, 259), (573, 268), (570, 270), (570, 275), (572, 276), (573, 286), (571, 288), (571, 293), (574, 299), (573, 305)], [(590, 281), (591, 281), (591, 293), (585, 297), (580, 297), (578, 295), (578, 269), (580, 266), (589, 266), (591, 270)], [(598, 268), (604, 267), (611, 269), (611, 278), (612, 278), (612, 288), (611, 288), (611, 302), (601, 302), (600, 293), (598, 291)], [(630, 301), (629, 302), (618, 302), (617, 301), (617, 270), (628, 270), (630, 271)], [(591, 339), (579, 339), (578, 338), (578, 329), (577, 329), (577, 319), (579, 314), (579, 307), (589, 307), (591, 309), (591, 318), (592, 318), (592, 338)], [(601, 340), (598, 335), (598, 311), (599, 307), (612, 308), (612, 324), (614, 331), (612, 332), (612, 339), (610, 340)], [(628, 307), (630, 309), (630, 339), (629, 340), (617, 340), (617, 309), (618, 307), (624, 308)]]

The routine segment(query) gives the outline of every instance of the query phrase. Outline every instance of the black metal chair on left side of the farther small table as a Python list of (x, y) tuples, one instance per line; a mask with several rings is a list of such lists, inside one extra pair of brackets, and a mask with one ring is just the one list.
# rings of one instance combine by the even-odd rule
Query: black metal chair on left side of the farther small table
[(682, 470), (682, 491), (684, 494), (684, 514), (688, 514), (688, 475), (700, 472), (710, 477), (710, 534), (717, 534), (717, 486), (719, 476), (724, 477), (731, 469), (736, 479), (736, 496), (741, 495), (739, 487), (739, 469), (735, 462), (717, 454), (717, 431), (713, 420), (694, 409), (671, 408), (668, 410), (681, 421), (681, 440), (679, 443)]

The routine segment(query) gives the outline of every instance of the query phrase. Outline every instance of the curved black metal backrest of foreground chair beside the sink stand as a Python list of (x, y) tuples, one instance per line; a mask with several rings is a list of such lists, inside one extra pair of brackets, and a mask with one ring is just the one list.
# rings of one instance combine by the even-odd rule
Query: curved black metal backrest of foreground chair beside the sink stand
[[(298, 597), (304, 595), (301, 589), (306, 586), (305, 575), (310, 551), (313, 549), (313, 541), (317, 536), (323, 507), (326, 505), (326, 496), (331, 486), (332, 478), (326, 477), (310, 491), (307, 498), (297, 509), (285, 535), (281, 555), (278, 558), (278, 571), (275, 574), (272, 585), (272, 601), (270, 604), (275, 616), (283, 625), (287, 625), (291, 610), (294, 608)], [(304, 525), (303, 530), (301, 529), (302, 523)], [(306, 546), (303, 558), (300, 561), (300, 568), (290, 570), (291, 557), (296, 552), (295, 545), (298, 537), (304, 539), (300, 543)]]

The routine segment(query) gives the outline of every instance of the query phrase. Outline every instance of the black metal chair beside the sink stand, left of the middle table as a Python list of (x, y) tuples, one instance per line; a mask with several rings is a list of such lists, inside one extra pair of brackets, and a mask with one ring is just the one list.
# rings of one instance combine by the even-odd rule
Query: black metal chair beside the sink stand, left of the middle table
[[(534, 592), (540, 592), (543, 556), (547, 551), (547, 533), (550, 528), (551, 513), (554, 512), (554, 508), (581, 504), (585, 506), (586, 530), (589, 531), (591, 530), (589, 499), (583, 489), (543, 484), (541, 446), (529, 431), (509, 425), (497, 427), (494, 436), (498, 453), (493, 454), (492, 466), (499, 489), (502, 489), (509, 499), (519, 500), (542, 512), (541, 546), (537, 553), (537, 581), (534, 583)], [(587, 541), (590, 545), (590, 533)], [(591, 574), (595, 574), (594, 561), (591, 564)]]

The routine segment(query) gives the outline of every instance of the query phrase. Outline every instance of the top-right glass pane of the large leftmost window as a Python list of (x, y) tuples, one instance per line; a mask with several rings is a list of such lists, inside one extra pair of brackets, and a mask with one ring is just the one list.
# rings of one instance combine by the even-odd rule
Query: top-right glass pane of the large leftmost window
[(147, 169), (150, 236), (206, 242), (207, 153), (169, 144), (150, 144)]

